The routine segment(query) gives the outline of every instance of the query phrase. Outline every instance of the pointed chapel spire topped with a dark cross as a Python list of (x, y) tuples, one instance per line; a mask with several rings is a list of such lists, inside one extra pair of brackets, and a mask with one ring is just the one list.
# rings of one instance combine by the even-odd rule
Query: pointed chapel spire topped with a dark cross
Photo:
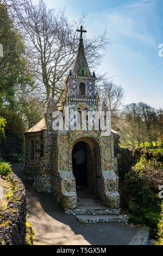
[(79, 39), (77, 57), (74, 61), (74, 66), (73, 66), (73, 69), (72, 69), (72, 75), (74, 75), (74, 76), (83, 76), (83, 75), (84, 76), (91, 76), (91, 72), (89, 70), (89, 67), (87, 65), (87, 61), (86, 61), (86, 58), (85, 58), (83, 38), (82, 38), (83, 32), (86, 33), (86, 31), (84, 31), (83, 26), (81, 26), (80, 30), (77, 29), (77, 32), (80, 32), (80, 39)]

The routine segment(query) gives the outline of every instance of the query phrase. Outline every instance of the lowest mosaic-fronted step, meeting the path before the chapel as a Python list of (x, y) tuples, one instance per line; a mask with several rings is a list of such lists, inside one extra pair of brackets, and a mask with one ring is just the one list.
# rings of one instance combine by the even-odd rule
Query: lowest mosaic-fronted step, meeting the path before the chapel
[(83, 223), (117, 222), (127, 223), (127, 215), (76, 215), (78, 221)]

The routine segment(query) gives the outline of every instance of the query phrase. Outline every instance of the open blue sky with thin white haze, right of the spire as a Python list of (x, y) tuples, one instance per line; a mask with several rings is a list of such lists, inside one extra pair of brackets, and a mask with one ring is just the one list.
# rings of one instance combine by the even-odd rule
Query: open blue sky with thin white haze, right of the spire
[(87, 38), (108, 31), (107, 46), (101, 72), (114, 77), (126, 92), (125, 104), (146, 102), (163, 107), (162, 0), (46, 0), (50, 8), (66, 7), (69, 20), (87, 17)]

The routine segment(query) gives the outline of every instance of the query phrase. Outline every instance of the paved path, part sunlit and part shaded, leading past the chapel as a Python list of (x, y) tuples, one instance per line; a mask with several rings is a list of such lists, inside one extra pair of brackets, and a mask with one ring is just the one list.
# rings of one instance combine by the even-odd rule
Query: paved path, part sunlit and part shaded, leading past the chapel
[[(12, 169), (23, 181), (21, 164)], [(80, 223), (75, 216), (66, 215), (51, 194), (34, 191), (28, 182), (24, 185), (27, 220), (35, 231), (34, 245), (128, 245), (139, 231), (120, 223)]]

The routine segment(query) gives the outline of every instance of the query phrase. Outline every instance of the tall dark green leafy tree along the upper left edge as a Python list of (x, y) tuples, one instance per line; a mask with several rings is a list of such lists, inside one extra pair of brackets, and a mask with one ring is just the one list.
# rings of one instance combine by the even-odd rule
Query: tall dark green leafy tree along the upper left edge
[(25, 47), (21, 34), (14, 28), (7, 5), (0, 1), (0, 42), (3, 57), (0, 58), (0, 107), (14, 109), (16, 93), (30, 84), (32, 76), (27, 70)]

